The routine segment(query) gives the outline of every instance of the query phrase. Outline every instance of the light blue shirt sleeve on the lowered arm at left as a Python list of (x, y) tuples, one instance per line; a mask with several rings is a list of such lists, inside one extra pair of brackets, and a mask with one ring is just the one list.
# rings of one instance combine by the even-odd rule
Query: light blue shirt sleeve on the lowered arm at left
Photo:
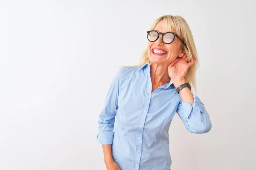
[(112, 79), (110, 88), (105, 98), (104, 107), (99, 114), (99, 133), (96, 139), (100, 144), (113, 143), (113, 129), (115, 123), (116, 109), (118, 107), (117, 99), (119, 94), (121, 68), (116, 72)]

